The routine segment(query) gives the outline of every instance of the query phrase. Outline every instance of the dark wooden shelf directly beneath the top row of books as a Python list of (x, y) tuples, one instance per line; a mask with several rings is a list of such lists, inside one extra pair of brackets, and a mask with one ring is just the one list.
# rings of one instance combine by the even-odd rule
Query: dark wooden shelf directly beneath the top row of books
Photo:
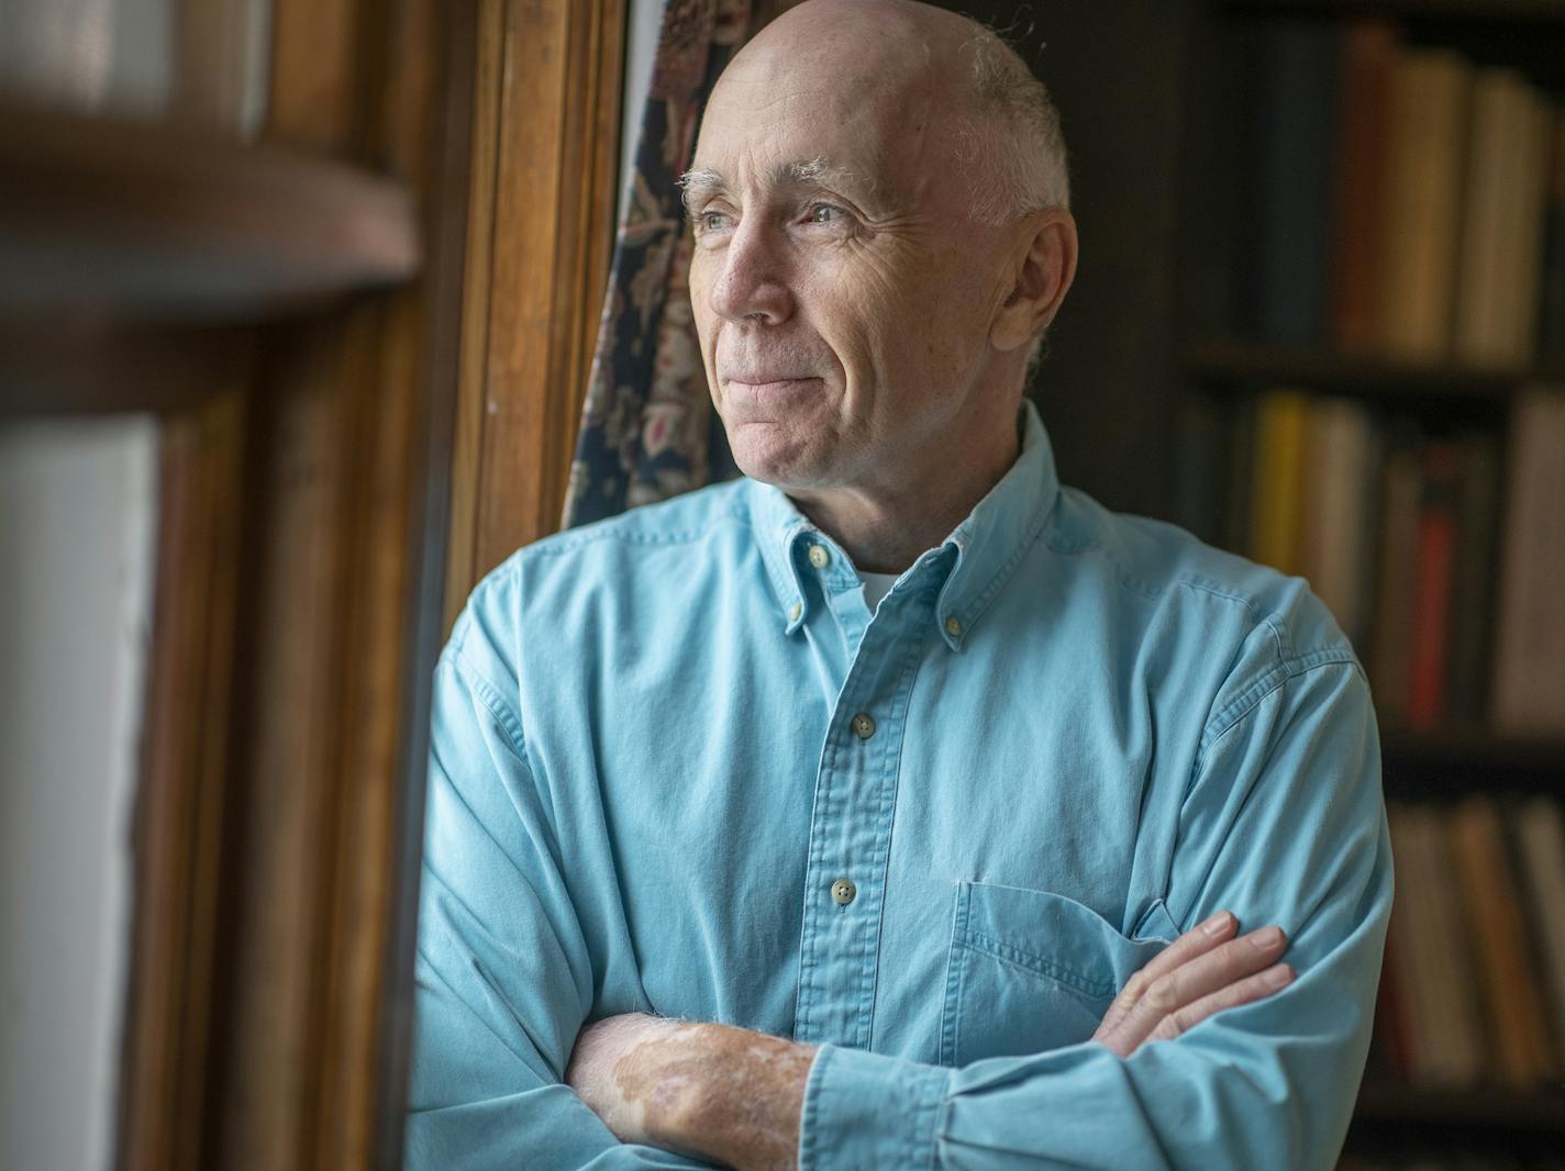
[(1321, 349), (1216, 341), (1191, 347), (1183, 358), (1191, 377), (1227, 386), (1307, 386), (1358, 397), (1488, 400), (1502, 405), (1523, 386), (1565, 385), (1565, 371), (1487, 371), (1463, 366), (1412, 366), (1383, 358)]

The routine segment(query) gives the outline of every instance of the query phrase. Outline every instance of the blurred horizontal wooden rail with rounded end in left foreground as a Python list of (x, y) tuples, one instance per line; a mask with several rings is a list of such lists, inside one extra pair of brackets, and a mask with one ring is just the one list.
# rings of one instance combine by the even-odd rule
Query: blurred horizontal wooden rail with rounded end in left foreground
[(0, 314), (233, 322), (418, 270), (407, 189), (191, 127), (0, 100)]

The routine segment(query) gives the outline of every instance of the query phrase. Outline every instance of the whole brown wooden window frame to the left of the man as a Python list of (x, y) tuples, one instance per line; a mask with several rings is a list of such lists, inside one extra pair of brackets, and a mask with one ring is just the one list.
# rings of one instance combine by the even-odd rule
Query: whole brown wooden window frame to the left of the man
[[(396, 1166), (430, 672), (559, 524), (626, 3), (272, 0), (258, 142), (177, 14), (200, 117), (0, 109), (0, 417), (161, 421), (117, 1162)], [(114, 295), (30, 303), (85, 236)]]

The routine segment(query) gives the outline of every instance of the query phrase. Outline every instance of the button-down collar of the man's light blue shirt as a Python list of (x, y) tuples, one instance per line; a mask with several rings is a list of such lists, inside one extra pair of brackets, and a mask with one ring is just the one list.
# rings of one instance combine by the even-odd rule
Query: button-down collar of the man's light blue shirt
[[(787, 633), (803, 625), (809, 594), (801, 580), (808, 546), (825, 546), (831, 560), (822, 575), (854, 575), (847, 553), (822, 533), (779, 488), (750, 482), (750, 510), (767, 575), (776, 591)], [(1022, 452), (989, 494), (930, 549), (908, 574), (944, 574), (934, 622), (941, 638), (959, 649), (995, 594), (1038, 538), (1060, 497), (1055, 453), (1038, 408), (1022, 403)]]

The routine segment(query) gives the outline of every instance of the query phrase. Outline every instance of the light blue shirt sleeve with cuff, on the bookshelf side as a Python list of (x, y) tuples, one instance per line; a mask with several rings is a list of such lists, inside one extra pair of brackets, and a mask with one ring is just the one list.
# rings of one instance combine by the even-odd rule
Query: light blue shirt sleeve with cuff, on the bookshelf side
[(959, 1069), (823, 1046), (801, 1168), (1330, 1168), (1352, 1115), (1391, 850), (1362, 669), (1277, 666), (1208, 719), (1166, 902), (1280, 924), (1297, 979), (1128, 1058), (1083, 1043)]

